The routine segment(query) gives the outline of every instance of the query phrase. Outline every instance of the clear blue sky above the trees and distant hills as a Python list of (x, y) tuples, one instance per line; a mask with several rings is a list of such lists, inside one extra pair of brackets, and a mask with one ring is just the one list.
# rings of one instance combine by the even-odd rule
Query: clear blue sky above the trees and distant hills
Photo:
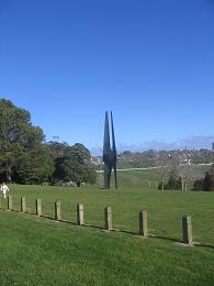
[(0, 0), (0, 97), (47, 140), (214, 135), (213, 0)]

